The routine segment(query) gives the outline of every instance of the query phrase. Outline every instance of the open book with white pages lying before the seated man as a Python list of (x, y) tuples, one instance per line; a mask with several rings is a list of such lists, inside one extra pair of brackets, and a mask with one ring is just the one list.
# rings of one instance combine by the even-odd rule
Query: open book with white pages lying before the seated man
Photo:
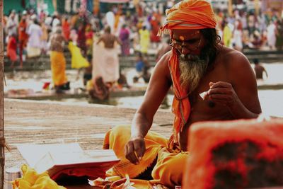
[(60, 172), (82, 174), (82, 171), (86, 171), (86, 176), (87, 172), (91, 176), (97, 172), (100, 176), (120, 161), (112, 149), (83, 151), (77, 143), (21, 144), (18, 150), (37, 173), (48, 171), (53, 179)]

